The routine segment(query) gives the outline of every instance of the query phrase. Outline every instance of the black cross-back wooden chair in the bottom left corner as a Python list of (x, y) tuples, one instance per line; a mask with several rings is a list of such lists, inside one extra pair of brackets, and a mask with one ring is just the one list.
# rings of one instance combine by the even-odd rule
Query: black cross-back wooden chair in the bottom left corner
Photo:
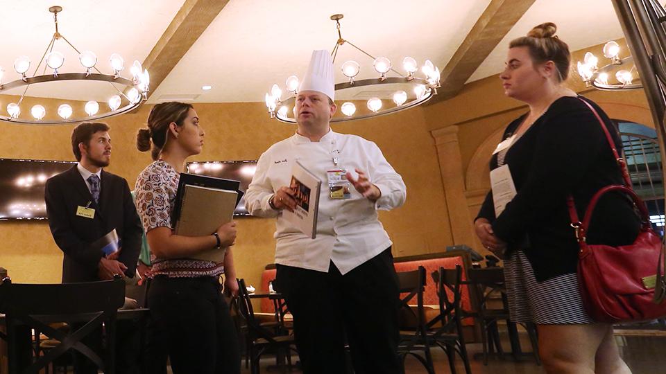
[[(49, 285), (12, 284), (9, 278), (3, 279), (0, 312), (6, 314), (9, 373), (39, 373), (70, 348), (88, 357), (104, 373), (114, 373), (116, 317), (124, 297), (125, 282), (121, 278)], [(56, 322), (68, 323), (69, 331), (49, 326)], [(82, 341), (102, 326), (106, 337), (105, 359)], [(29, 344), (31, 328), (60, 343), (33, 359)], [(28, 344), (24, 344), (26, 341)]]

